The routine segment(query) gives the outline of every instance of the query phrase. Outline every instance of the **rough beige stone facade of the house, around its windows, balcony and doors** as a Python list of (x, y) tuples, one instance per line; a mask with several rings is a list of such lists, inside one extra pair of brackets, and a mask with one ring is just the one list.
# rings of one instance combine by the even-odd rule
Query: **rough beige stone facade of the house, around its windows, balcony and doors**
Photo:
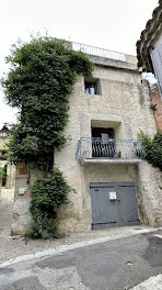
[[(137, 140), (143, 131), (152, 136), (157, 132), (153, 111), (150, 110), (151, 97), (147, 82), (141, 83), (141, 74), (137, 69), (137, 59), (126, 56), (127, 62), (105, 59), (90, 56), (95, 64), (93, 78), (99, 80), (97, 94), (85, 94), (84, 78), (78, 76), (73, 93), (70, 97), (69, 123), (66, 135), (70, 136), (67, 145), (55, 150), (55, 166), (62, 170), (68, 183), (77, 193), (70, 193), (70, 203), (62, 207), (58, 215), (63, 232), (90, 230), (92, 225), (90, 182), (134, 181), (141, 223), (162, 224), (162, 213), (154, 201), (158, 199), (157, 188), (161, 182), (161, 172), (141, 161), (127, 164), (82, 164), (76, 159), (78, 142), (81, 137), (91, 138), (91, 127), (114, 127), (115, 137)], [(149, 124), (149, 125), (148, 125)], [(22, 165), (21, 165), (22, 166)], [(158, 180), (150, 182), (148, 171)], [(32, 172), (30, 185), (37, 174)], [(152, 178), (153, 178), (152, 177)], [(24, 211), (19, 210), (22, 201), (27, 207), (30, 185), (26, 176), (16, 174), (15, 217), (12, 231), (20, 233), (26, 226)], [(20, 188), (27, 188), (24, 196), (18, 194)], [(147, 199), (149, 197), (149, 199)], [(26, 208), (25, 208), (26, 209)], [(142, 209), (142, 210), (141, 210)], [(152, 209), (150, 214), (150, 209)], [(21, 213), (20, 213), (21, 212)], [(28, 217), (26, 219), (28, 222)], [(158, 221), (158, 222), (157, 222)]]

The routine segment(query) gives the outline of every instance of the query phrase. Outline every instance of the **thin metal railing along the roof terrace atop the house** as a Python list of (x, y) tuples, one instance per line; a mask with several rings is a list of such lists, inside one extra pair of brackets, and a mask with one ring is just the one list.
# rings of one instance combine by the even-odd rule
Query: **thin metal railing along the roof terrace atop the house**
[(125, 54), (96, 47), (96, 46), (91, 46), (91, 45), (81, 44), (81, 43), (72, 43), (72, 49), (77, 52), (81, 51), (89, 55), (95, 55), (95, 56), (101, 56), (101, 57), (105, 57), (109, 59), (126, 62)]

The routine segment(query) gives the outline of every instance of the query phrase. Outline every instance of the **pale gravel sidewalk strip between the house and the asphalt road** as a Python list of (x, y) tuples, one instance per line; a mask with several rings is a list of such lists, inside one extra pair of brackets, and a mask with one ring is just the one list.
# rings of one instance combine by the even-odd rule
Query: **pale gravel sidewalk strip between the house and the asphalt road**
[(13, 191), (2, 189), (2, 202), (0, 202), (0, 264), (37, 252), (43, 252), (46, 255), (48, 252), (53, 253), (57, 248), (61, 249), (67, 247), (68, 249), (72, 244), (79, 247), (86, 244), (102, 243), (104, 239), (108, 241), (151, 231), (151, 227), (147, 226), (123, 226), (84, 233), (72, 233), (60, 239), (30, 239), (26, 242), (23, 237), (14, 238), (11, 236), (12, 208)]

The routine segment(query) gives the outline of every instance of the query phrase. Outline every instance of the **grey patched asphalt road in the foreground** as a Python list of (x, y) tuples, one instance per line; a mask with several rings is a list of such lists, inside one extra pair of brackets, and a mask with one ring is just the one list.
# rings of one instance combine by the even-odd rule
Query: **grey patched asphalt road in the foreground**
[(128, 290), (161, 272), (159, 230), (0, 268), (0, 290)]

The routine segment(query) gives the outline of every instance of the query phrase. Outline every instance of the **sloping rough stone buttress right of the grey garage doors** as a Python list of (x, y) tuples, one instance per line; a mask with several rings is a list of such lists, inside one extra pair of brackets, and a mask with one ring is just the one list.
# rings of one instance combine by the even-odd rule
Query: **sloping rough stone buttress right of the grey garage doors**
[(162, 225), (162, 171), (143, 160), (138, 166), (137, 200), (140, 221), (151, 226)]

